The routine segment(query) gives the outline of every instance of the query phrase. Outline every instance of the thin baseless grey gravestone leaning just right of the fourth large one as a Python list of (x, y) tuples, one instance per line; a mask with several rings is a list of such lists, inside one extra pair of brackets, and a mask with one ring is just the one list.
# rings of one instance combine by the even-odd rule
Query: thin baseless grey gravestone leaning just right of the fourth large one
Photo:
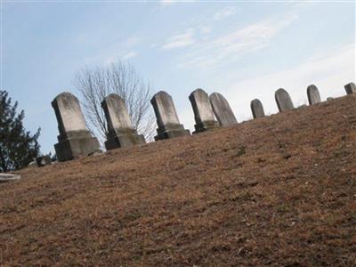
[(212, 93), (209, 96), (213, 111), (219, 125), (230, 126), (236, 125), (238, 121), (233, 114), (229, 102), (223, 97), (221, 93)]

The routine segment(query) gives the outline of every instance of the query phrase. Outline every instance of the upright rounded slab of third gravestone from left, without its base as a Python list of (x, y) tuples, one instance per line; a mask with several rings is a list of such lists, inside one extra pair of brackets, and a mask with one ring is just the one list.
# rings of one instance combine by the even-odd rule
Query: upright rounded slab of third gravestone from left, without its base
[(152, 97), (150, 102), (155, 110), (158, 127), (180, 124), (171, 95), (160, 91)]

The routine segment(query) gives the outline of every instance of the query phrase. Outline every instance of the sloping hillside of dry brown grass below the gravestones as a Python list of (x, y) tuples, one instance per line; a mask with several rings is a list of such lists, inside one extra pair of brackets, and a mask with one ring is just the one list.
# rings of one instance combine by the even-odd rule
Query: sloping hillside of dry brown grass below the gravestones
[(356, 262), (356, 94), (19, 173), (4, 265)]

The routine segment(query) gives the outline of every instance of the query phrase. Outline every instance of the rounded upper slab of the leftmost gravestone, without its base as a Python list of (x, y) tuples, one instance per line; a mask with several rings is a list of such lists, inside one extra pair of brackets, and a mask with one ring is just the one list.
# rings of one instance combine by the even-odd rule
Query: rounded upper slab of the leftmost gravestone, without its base
[(58, 94), (52, 101), (60, 134), (86, 130), (85, 119), (76, 96), (69, 92)]

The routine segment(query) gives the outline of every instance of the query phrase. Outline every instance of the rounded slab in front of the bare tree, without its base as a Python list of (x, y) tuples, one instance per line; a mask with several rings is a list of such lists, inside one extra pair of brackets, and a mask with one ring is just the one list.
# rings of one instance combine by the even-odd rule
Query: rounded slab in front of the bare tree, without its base
[(110, 93), (104, 101), (101, 102), (101, 107), (105, 111), (109, 129), (133, 128), (125, 100), (116, 93)]

